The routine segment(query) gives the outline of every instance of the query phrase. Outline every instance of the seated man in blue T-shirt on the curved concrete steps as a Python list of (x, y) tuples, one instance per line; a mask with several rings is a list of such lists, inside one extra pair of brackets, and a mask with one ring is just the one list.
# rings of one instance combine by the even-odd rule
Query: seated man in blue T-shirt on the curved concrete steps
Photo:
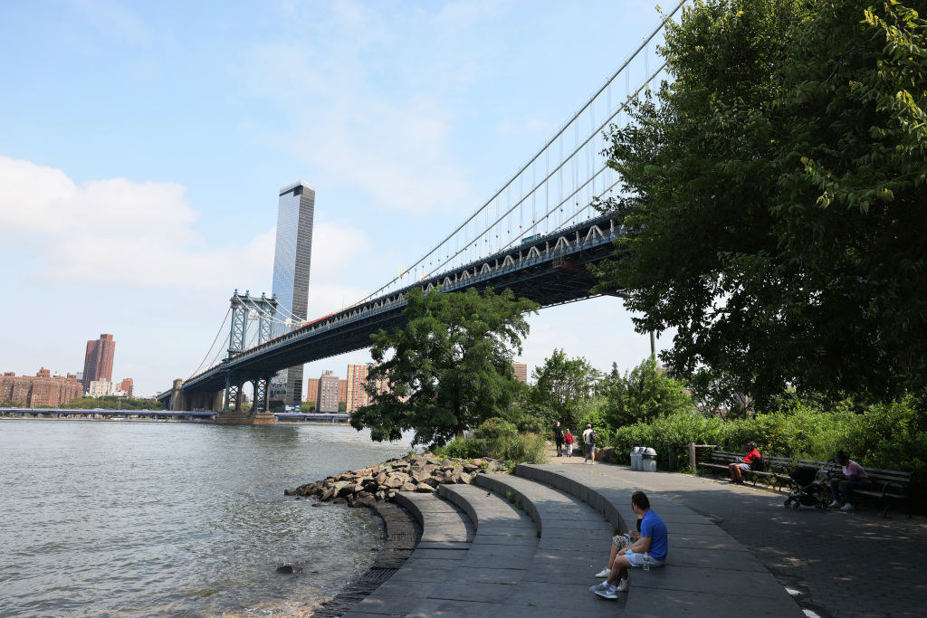
[(613, 541), (608, 568), (597, 575), (607, 579), (590, 587), (591, 592), (603, 599), (617, 599), (619, 592), (628, 591), (630, 567), (642, 567), (645, 561), (650, 567), (658, 567), (667, 560), (667, 524), (650, 508), (650, 499), (642, 491), (631, 496), (631, 510), (641, 519), (641, 536), (622, 549)]

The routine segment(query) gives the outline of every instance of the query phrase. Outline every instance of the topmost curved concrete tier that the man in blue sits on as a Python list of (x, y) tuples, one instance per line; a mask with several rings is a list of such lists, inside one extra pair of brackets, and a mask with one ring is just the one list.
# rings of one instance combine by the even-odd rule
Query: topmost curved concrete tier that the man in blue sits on
[[(637, 489), (612, 466), (519, 464), (515, 474), (581, 499), (621, 530), (635, 527), (630, 508)], [(648, 492), (651, 506), (667, 523), (667, 566), (634, 570), (626, 612), (641, 616), (679, 613), (705, 616), (804, 615), (756, 557), (704, 516), (669, 498)], [(543, 513), (541, 513), (541, 516)], [(607, 543), (603, 551), (608, 549)]]

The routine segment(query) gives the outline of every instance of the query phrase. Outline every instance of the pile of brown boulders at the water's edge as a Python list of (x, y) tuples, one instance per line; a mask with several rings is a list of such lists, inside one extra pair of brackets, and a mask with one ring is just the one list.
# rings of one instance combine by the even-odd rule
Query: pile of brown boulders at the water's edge
[(329, 476), (296, 489), (285, 489), (284, 495), (312, 496), (319, 498), (319, 505), (348, 504), (351, 507), (363, 507), (379, 500), (391, 499), (400, 491), (432, 493), (442, 484), (469, 483), (476, 473), (498, 469), (497, 460), (442, 460), (425, 453)]

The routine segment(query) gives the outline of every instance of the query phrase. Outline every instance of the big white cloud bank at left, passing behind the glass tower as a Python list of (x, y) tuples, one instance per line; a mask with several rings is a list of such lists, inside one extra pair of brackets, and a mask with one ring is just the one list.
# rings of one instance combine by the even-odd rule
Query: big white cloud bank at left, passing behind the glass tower
[[(214, 290), (270, 280), (273, 230), (212, 248), (194, 230), (197, 218), (177, 183), (78, 185), (61, 170), (0, 157), (0, 240), (31, 250), (33, 276), (48, 283)], [(314, 240), (322, 281), (369, 246), (331, 222), (318, 224)]]

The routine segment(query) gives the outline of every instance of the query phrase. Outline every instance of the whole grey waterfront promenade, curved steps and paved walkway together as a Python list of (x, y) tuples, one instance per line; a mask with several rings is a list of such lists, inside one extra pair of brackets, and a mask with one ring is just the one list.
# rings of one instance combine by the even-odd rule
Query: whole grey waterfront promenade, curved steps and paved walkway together
[[(927, 597), (919, 518), (794, 512), (775, 492), (581, 458), (476, 480), (400, 494), (423, 523), (419, 547), (345, 615), (920, 615)], [(598, 599), (588, 588), (616, 519), (633, 525), (636, 489), (667, 521), (668, 565), (635, 572), (617, 601)]]

